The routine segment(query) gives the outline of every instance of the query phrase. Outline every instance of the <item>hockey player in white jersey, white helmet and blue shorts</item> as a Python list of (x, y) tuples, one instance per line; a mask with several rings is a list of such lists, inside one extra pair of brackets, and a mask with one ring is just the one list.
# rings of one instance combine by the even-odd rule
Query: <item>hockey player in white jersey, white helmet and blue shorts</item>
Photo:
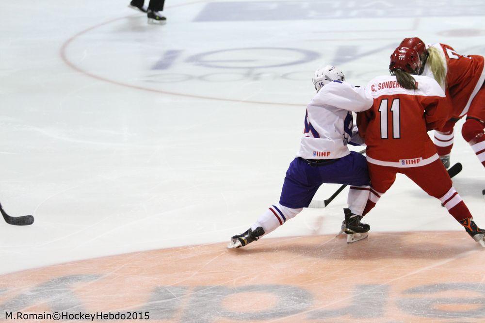
[[(317, 94), (307, 105), (300, 150), (288, 168), (279, 202), (261, 214), (247, 231), (233, 236), (228, 248), (259, 240), (295, 217), (308, 207), (323, 183), (351, 185), (348, 208), (344, 209), (347, 242), (367, 237), (370, 226), (360, 223), (370, 192), (367, 162), (361, 154), (350, 151), (347, 144), (353, 138), (361, 141), (353, 131), (352, 111), (369, 109), (372, 98), (365, 96), (364, 89), (345, 82), (343, 73), (330, 65), (317, 69), (312, 81)], [(361, 98), (363, 104), (342, 100), (349, 96)]]

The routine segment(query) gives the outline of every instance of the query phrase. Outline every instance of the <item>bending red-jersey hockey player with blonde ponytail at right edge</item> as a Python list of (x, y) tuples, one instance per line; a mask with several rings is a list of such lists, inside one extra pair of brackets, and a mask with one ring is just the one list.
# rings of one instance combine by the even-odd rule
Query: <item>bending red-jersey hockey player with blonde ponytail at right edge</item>
[(485, 166), (485, 71), (484, 57), (460, 55), (444, 44), (424, 45), (420, 38), (405, 38), (401, 45), (420, 55), (420, 75), (434, 78), (451, 100), (447, 122), (435, 131), (435, 145), (446, 168), (450, 166), (453, 127), (462, 117), (466, 121), (462, 136)]

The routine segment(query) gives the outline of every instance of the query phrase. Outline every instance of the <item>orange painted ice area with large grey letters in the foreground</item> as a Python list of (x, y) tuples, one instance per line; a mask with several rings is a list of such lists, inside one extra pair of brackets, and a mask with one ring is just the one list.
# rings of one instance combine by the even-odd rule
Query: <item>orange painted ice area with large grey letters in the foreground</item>
[[(465, 231), (264, 238), (0, 276), (0, 313), (148, 312), (163, 322), (484, 322), (483, 248)], [(75, 310), (73, 310), (75, 308)], [(372, 310), (369, 310), (372, 309)]]

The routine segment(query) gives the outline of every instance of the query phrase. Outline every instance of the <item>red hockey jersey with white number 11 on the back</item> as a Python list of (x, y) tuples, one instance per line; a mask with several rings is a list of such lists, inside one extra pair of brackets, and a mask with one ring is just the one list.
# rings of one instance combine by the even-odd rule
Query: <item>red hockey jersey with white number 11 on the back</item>
[(417, 90), (401, 87), (395, 76), (379, 76), (366, 86), (370, 110), (359, 113), (357, 126), (367, 145), (367, 161), (393, 167), (423, 166), (435, 161), (428, 130), (442, 127), (450, 109), (439, 84), (414, 76)]

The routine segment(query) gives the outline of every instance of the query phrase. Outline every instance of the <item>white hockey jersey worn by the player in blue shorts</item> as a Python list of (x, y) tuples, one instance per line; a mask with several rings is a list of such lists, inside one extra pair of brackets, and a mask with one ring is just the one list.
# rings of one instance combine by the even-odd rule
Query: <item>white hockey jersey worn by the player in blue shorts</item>
[[(353, 137), (360, 139), (354, 129), (353, 112), (372, 107), (372, 97), (364, 88), (333, 81), (322, 87), (307, 105), (305, 129), (297, 157), (305, 159), (334, 159), (350, 154), (347, 147)], [(361, 143), (361, 142), (357, 142)]]

